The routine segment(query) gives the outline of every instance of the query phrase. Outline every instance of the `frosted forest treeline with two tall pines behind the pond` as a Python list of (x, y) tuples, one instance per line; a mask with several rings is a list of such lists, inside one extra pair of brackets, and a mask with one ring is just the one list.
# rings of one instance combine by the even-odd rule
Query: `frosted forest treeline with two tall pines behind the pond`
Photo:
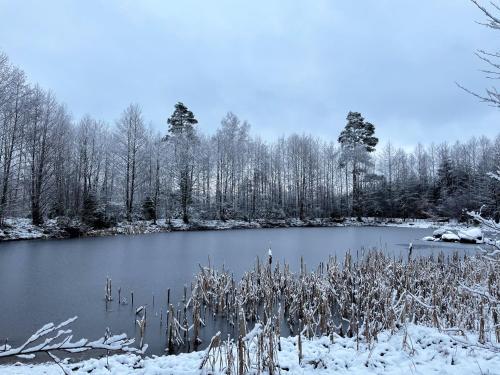
[[(338, 141), (264, 141), (229, 112), (215, 134), (177, 103), (165, 127), (137, 104), (113, 124), (75, 120), (51, 91), (0, 54), (0, 223), (6, 217), (121, 220), (379, 216), (499, 217), (500, 135), (405, 150), (378, 145), (350, 112)], [(332, 132), (336, 127), (332, 124)], [(378, 149), (376, 149), (378, 146)]]

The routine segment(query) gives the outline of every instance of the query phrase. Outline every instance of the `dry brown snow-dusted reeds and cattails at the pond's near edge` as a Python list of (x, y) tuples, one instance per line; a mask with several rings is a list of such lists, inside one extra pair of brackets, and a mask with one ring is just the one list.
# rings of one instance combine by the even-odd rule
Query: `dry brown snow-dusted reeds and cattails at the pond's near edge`
[[(498, 263), (480, 256), (441, 253), (407, 261), (379, 251), (358, 261), (350, 253), (342, 262), (330, 258), (311, 272), (301, 261), (298, 273), (288, 264), (273, 265), (270, 256), (265, 264), (257, 259), (238, 282), (227, 270), (200, 267), (190, 299), (197, 306), (193, 326), (202, 325), (203, 306), (237, 327), (233, 340), (214, 336), (201, 367), (275, 373), (283, 334), (297, 335), (300, 361), (303, 340), (348, 337), (357, 347), (360, 342), (370, 346), (381, 332), (404, 330), (408, 324), (434, 327), (464, 345), (498, 352), (499, 271)], [(289, 332), (281, 332), (283, 322)], [(254, 329), (247, 332), (249, 323)], [(478, 340), (471, 342), (467, 332), (476, 332)]]

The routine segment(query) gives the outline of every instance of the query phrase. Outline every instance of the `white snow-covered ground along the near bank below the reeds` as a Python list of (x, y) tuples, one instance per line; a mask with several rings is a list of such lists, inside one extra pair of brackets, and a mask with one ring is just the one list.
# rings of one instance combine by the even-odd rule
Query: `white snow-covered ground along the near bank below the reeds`
[[(355, 338), (328, 337), (302, 340), (303, 359), (299, 364), (297, 338), (281, 338), (278, 363), (282, 374), (500, 374), (500, 354), (467, 347), (437, 329), (409, 324), (398, 332), (383, 332), (368, 347)], [(224, 368), (200, 370), (205, 352), (141, 358), (118, 354), (92, 358), (65, 367), (76, 374), (223, 374)], [(109, 363), (109, 366), (107, 365)], [(235, 369), (233, 369), (232, 373)], [(0, 373), (61, 374), (54, 363), (0, 366)], [(254, 372), (255, 373), (255, 372)]]

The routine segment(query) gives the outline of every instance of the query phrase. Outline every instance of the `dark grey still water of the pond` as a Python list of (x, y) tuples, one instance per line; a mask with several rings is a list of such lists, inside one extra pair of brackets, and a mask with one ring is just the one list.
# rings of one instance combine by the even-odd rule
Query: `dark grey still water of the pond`
[[(470, 245), (418, 240), (431, 233), (432, 229), (389, 227), (287, 228), (0, 243), (0, 343), (8, 338), (17, 346), (43, 324), (74, 315), (79, 317), (72, 325), (75, 338), (101, 337), (106, 327), (134, 337), (139, 334), (135, 308), (147, 304), (148, 353), (162, 354), (166, 337), (160, 309), (165, 312), (167, 288), (171, 303), (181, 301), (183, 285), (190, 284), (198, 264), (207, 265), (208, 256), (212, 265), (224, 264), (238, 278), (253, 267), (257, 256), (265, 259), (270, 246), (274, 262), (286, 261), (292, 270), (298, 269), (300, 256), (312, 269), (329, 255), (342, 258), (348, 249), (356, 255), (377, 247), (406, 257), (410, 242), (415, 255), (474, 251)], [(106, 308), (107, 276), (114, 301)], [(118, 288), (128, 305), (118, 304)], [(202, 330), (205, 343), (221, 324), (225, 321), (209, 322)]]

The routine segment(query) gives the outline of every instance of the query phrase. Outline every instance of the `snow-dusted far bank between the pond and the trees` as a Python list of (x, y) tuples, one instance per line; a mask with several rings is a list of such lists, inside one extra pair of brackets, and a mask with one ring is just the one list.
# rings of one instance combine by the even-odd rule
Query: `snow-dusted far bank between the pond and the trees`
[[(18, 241), (34, 239), (67, 239), (75, 237), (105, 237), (115, 235), (132, 235), (148, 233), (165, 233), (177, 231), (205, 231), (205, 230), (229, 230), (229, 229), (266, 229), (266, 228), (330, 228), (350, 226), (380, 226), (401, 228), (439, 228), (443, 225), (449, 227), (456, 224), (448, 224), (425, 219), (376, 219), (356, 218), (331, 219), (256, 219), (253, 221), (243, 220), (193, 220), (185, 224), (180, 219), (158, 220), (156, 224), (152, 221), (139, 220), (134, 222), (120, 222), (106, 229), (88, 228), (77, 221), (63, 218), (49, 219), (41, 226), (31, 224), (30, 219), (8, 218), (4, 221), (5, 226), (0, 227), (0, 241)], [(459, 227), (461, 228), (461, 227)]]

